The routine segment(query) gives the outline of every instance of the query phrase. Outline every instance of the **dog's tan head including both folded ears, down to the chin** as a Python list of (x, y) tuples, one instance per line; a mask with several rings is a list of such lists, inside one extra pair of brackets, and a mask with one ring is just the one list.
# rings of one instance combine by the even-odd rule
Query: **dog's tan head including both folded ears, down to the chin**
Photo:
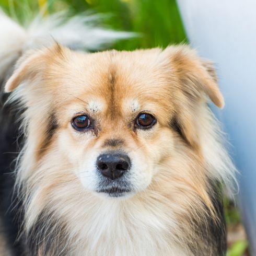
[(55, 46), (20, 63), (6, 88), (29, 81), (20, 93), (35, 161), (54, 154), (99, 195), (144, 191), (161, 169), (179, 171), (178, 153), (200, 158), (204, 95), (223, 105), (212, 69), (182, 47), (85, 54)]

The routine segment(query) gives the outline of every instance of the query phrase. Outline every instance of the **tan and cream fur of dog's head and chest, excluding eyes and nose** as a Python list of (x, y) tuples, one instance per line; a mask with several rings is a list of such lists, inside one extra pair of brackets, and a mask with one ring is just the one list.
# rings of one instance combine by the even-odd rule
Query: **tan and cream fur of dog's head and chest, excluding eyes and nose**
[[(65, 223), (68, 255), (193, 255), (195, 242), (204, 248), (193, 222), (209, 215), (218, 222), (208, 181), (228, 183), (235, 170), (206, 106), (207, 97), (224, 106), (209, 63), (187, 46), (88, 54), (55, 45), (18, 66), (6, 91), (17, 87), (13, 99), (27, 107), (17, 182), (27, 230), (46, 210)], [(134, 130), (143, 111), (157, 124)], [(71, 126), (82, 112), (97, 120), (95, 132)], [(57, 130), (49, 137), (51, 115)], [(124, 199), (98, 195), (88, 167), (111, 138), (124, 142), (115, 149), (135, 163), (134, 193)]]

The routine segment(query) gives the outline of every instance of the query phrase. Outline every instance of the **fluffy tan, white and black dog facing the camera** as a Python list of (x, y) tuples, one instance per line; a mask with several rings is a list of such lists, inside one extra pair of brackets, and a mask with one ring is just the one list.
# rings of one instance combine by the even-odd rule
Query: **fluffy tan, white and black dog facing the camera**
[(15, 157), (1, 145), (3, 251), (225, 255), (222, 188), (236, 169), (208, 106), (224, 107), (213, 64), (187, 45), (88, 53), (60, 41), (2, 48), (2, 141), (22, 145)]

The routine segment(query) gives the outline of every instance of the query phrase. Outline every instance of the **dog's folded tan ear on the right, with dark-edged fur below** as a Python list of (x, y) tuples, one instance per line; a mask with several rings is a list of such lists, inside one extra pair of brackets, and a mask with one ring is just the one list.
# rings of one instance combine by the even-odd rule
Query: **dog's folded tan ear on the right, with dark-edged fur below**
[(206, 96), (217, 107), (224, 107), (215, 69), (189, 46), (169, 46), (162, 53), (170, 74), (170, 90), (175, 104), (171, 125), (190, 146), (199, 148), (201, 110), (206, 107)]

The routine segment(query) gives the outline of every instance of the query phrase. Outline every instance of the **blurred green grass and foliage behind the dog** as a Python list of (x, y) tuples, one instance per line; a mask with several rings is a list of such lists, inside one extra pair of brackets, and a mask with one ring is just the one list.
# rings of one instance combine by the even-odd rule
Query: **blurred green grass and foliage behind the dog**
[[(169, 44), (188, 43), (174, 0), (0, 0), (0, 7), (25, 27), (39, 11), (45, 16), (62, 10), (68, 10), (71, 15), (105, 14), (105, 27), (139, 33), (137, 37), (111, 46), (117, 50), (164, 48)], [(250, 255), (235, 202), (226, 197), (224, 203), (228, 227), (227, 255)]]

